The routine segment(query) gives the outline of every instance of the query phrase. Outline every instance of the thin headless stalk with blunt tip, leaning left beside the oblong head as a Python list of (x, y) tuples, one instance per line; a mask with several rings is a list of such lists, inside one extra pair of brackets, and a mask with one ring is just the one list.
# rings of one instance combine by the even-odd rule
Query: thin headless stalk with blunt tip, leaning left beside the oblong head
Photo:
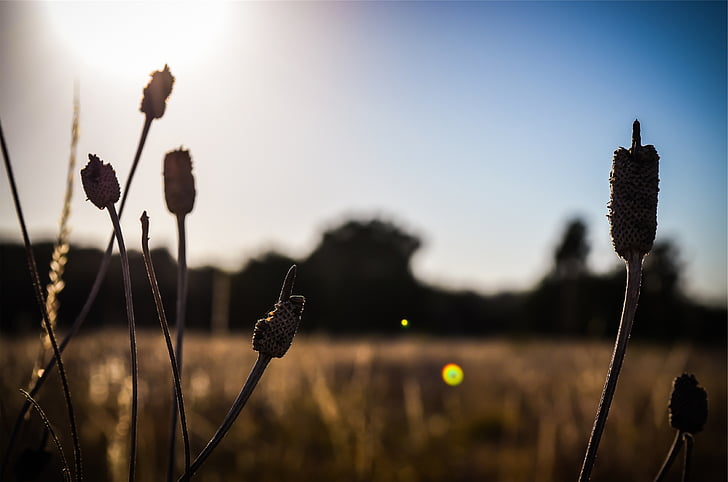
[[(154, 265), (152, 264), (152, 257), (149, 254), (149, 217), (147, 212), (144, 211), (142, 214), (142, 253), (144, 255), (144, 264), (147, 268), (147, 277), (149, 278), (149, 284), (152, 287), (152, 294), (154, 295), (154, 304), (157, 306), (157, 315), (159, 316), (159, 323), (162, 325), (162, 332), (164, 333), (164, 341), (167, 343), (167, 352), (169, 353), (169, 361), (172, 364), (172, 376), (174, 377), (174, 407), (175, 410), (179, 407), (180, 424), (182, 425), (182, 440), (184, 441), (185, 447), (185, 473), (190, 471), (190, 439), (187, 432), (187, 417), (185, 416), (185, 404), (182, 398), (182, 376), (181, 376), (181, 364), (179, 358), (175, 356), (174, 348), (172, 347), (172, 338), (169, 335), (169, 326), (167, 325), (167, 316), (164, 313), (164, 304), (162, 303), (162, 295), (159, 293), (159, 286), (157, 284), (157, 275), (154, 273)], [(179, 341), (179, 338), (178, 338)], [(177, 412), (175, 412), (176, 414)], [(176, 417), (175, 417), (176, 422)], [(171, 468), (174, 470), (174, 467)], [(171, 476), (171, 472), (168, 473), (168, 477)]]

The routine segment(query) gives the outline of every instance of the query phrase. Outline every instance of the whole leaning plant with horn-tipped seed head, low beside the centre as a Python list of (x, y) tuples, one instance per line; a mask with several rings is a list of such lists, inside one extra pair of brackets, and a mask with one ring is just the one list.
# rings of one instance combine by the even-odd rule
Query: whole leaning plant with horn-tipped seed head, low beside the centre
[(199, 468), (205, 463), (215, 447), (222, 441), (230, 427), (233, 426), (235, 419), (245, 406), (245, 403), (253, 393), (255, 386), (258, 384), (260, 377), (263, 376), (266, 367), (273, 358), (281, 358), (286, 354), (296, 335), (298, 325), (301, 322), (301, 313), (303, 313), (303, 305), (305, 298), (303, 296), (292, 295), (293, 282), (296, 279), (296, 265), (291, 266), (283, 281), (283, 288), (278, 297), (278, 302), (273, 310), (268, 313), (268, 317), (258, 320), (255, 324), (253, 332), (253, 350), (258, 352), (258, 358), (253, 365), (250, 374), (243, 388), (238, 394), (238, 398), (233, 402), (232, 407), (225, 415), (225, 419), (220, 427), (212, 436), (202, 452), (192, 462), (190, 470), (185, 473), (180, 480), (185, 480), (193, 476)]

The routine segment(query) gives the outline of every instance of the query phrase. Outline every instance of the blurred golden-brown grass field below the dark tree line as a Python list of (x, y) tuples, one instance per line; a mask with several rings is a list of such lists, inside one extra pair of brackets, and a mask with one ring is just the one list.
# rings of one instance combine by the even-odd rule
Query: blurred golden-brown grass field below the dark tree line
[[(37, 339), (0, 343), (4, 450)], [(575, 480), (610, 355), (611, 344), (602, 342), (299, 336), (283, 359), (271, 363), (198, 480)], [(137, 475), (162, 480), (171, 377), (158, 332), (139, 334), (139, 356)], [(125, 480), (127, 335), (80, 337), (64, 358), (86, 478)], [(187, 338), (184, 390), (195, 454), (222, 420), (254, 359), (248, 336)], [(451, 362), (464, 371), (456, 387), (440, 377)], [(683, 371), (696, 374), (710, 404), (706, 430), (696, 437), (695, 480), (726, 480), (725, 350), (634, 342), (593, 480), (652, 480), (674, 437), (667, 401), (672, 379)], [(70, 458), (58, 385), (54, 379), (38, 400), (63, 434)], [(35, 414), (32, 427), (38, 427)], [(32, 440), (26, 435), (24, 443)], [(679, 480), (681, 464), (669, 480)], [(48, 476), (56, 477), (57, 470), (52, 467)]]

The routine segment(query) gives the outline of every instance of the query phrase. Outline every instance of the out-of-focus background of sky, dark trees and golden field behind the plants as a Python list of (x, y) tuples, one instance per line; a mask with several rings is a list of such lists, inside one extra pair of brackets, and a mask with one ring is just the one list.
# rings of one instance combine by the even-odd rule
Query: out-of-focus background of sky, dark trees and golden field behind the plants
[[(182, 145), (197, 188), (193, 450), (239, 390), (253, 325), (293, 263), (307, 298), (290, 353), (204, 480), (576, 478), (624, 290), (606, 218), (611, 156), (637, 118), (661, 156), (658, 234), (594, 478), (654, 477), (673, 438), (670, 384), (689, 371), (711, 407), (696, 477), (725, 480), (726, 21), (724, 2), (0, 3), (0, 119), (44, 285), (74, 91), (76, 171), (95, 153), (123, 181), (150, 72), (168, 64), (176, 77), (122, 220), (141, 342), (139, 476), (164, 477), (170, 375), (138, 218), (151, 217), (173, 323), (177, 234), (161, 172)], [(111, 234), (79, 180), (61, 334)], [(40, 324), (7, 182), (0, 199), (8, 433)], [(66, 351), (89, 479), (126, 478), (124, 306), (115, 256)], [(461, 383), (446, 383), (448, 364)], [(39, 402), (68, 442), (54, 383)], [(18, 449), (40, 443), (36, 422)]]

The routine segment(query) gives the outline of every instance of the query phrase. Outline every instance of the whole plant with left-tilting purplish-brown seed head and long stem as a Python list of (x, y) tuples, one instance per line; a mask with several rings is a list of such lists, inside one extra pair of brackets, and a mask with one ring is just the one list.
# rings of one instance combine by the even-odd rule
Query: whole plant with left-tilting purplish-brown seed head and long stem
[(139, 369), (137, 367), (136, 326), (134, 323), (134, 303), (131, 296), (131, 276), (129, 274), (129, 258), (126, 254), (124, 237), (121, 233), (119, 216), (114, 203), (119, 200), (119, 181), (111, 164), (104, 164), (93, 154), (88, 155), (89, 162), (81, 170), (81, 182), (86, 191), (88, 200), (99, 209), (106, 209), (114, 225), (116, 240), (119, 245), (121, 257), (121, 272), (124, 278), (124, 295), (126, 298), (126, 315), (129, 321), (129, 347), (131, 352), (131, 449), (129, 452), (129, 481), (134, 480), (136, 465), (136, 439), (137, 439), (137, 405), (139, 399)]

